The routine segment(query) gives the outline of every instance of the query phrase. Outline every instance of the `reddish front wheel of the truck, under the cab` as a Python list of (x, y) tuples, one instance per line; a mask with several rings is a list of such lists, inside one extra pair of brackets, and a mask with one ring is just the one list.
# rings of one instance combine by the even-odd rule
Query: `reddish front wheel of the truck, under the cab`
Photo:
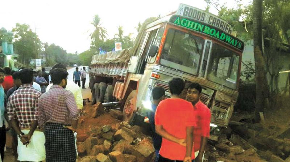
[(124, 121), (130, 120), (133, 115), (133, 112), (136, 110), (136, 99), (137, 99), (137, 91), (133, 90), (128, 95), (123, 108)]

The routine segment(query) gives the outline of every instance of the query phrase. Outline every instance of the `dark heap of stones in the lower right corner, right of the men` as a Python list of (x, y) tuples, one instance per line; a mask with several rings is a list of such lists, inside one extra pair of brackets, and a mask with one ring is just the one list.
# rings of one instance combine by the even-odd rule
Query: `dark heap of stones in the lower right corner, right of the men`
[(209, 162), (290, 162), (290, 139), (256, 134), (246, 141), (240, 136), (243, 135), (235, 134), (230, 127), (219, 136), (211, 136), (206, 159)]

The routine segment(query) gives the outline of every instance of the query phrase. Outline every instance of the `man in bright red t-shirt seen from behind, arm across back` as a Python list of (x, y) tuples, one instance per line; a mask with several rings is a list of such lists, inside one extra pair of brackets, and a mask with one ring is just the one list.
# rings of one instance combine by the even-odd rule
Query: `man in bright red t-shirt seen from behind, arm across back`
[(191, 102), (179, 98), (184, 89), (181, 78), (169, 81), (171, 98), (161, 101), (155, 113), (155, 130), (162, 136), (159, 162), (191, 162), (195, 156), (193, 127), (196, 126)]

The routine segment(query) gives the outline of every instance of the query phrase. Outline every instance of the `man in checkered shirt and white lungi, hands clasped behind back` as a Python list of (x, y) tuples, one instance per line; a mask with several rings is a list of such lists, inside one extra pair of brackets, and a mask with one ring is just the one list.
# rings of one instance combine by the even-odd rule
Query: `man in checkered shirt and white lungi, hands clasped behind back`
[(12, 93), (7, 104), (8, 119), (18, 134), (18, 161), (43, 161), (45, 137), (37, 127), (37, 105), (41, 92), (32, 87), (31, 69), (21, 69), (19, 72), (22, 85)]

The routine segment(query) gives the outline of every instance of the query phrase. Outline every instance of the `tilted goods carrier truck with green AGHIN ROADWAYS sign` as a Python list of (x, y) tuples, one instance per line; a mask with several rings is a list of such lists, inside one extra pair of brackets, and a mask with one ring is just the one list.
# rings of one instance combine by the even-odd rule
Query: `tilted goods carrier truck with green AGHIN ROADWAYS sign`
[(244, 43), (225, 20), (180, 4), (176, 12), (147, 19), (132, 48), (94, 55), (90, 76), (93, 103), (118, 100), (124, 120), (150, 109), (151, 91), (182, 78), (185, 99), (190, 83), (202, 86), (200, 100), (211, 111), (211, 126), (226, 127), (238, 98)]

